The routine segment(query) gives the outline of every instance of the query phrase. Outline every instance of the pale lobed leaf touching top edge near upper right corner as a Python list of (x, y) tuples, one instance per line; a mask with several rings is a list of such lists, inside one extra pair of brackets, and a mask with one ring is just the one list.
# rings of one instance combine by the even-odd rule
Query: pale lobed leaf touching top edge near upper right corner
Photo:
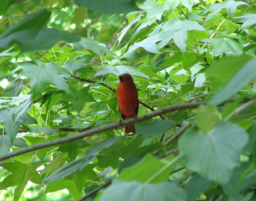
[(237, 7), (239, 5), (248, 5), (248, 3), (245, 3), (243, 1), (226, 0), (226, 1), (223, 1), (222, 3), (212, 4), (207, 9), (204, 9), (203, 11), (203, 14), (208, 13), (209, 11), (214, 11), (214, 13), (210, 13), (210, 15), (208, 15), (205, 22), (208, 21), (209, 19), (212, 19), (212, 17), (214, 17), (215, 15), (218, 15), (218, 13), (224, 8), (228, 12), (228, 15), (232, 17), (234, 13), (237, 11)]

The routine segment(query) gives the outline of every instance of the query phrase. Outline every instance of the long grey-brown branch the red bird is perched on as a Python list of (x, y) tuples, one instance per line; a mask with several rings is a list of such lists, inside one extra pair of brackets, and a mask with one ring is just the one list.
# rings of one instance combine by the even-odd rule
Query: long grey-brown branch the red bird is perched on
[(11, 157), (15, 157), (17, 155), (22, 155), (22, 154), (28, 153), (30, 151), (35, 151), (35, 150), (43, 149), (43, 148), (46, 148), (46, 147), (52, 147), (54, 145), (60, 145), (60, 144), (63, 144), (63, 143), (70, 143), (72, 141), (76, 141), (76, 140), (82, 139), (84, 137), (95, 135), (95, 134), (101, 133), (103, 131), (108, 131), (108, 130), (111, 130), (111, 129), (117, 129), (119, 127), (123, 127), (124, 125), (128, 125), (130, 123), (136, 123), (136, 122), (140, 122), (140, 121), (145, 121), (146, 119), (152, 119), (153, 117), (157, 117), (159, 115), (163, 115), (163, 114), (169, 113), (171, 111), (176, 111), (176, 110), (181, 110), (181, 109), (195, 109), (195, 108), (198, 108), (200, 105), (206, 105), (208, 102), (209, 101), (169, 105), (167, 107), (164, 107), (162, 109), (153, 111), (153, 112), (148, 113), (146, 115), (140, 115), (136, 118), (126, 119), (126, 120), (122, 121), (122, 125), (120, 125), (120, 122), (118, 121), (116, 123), (110, 123), (108, 125), (103, 125), (101, 127), (97, 127), (95, 129), (91, 129), (89, 131), (84, 131), (84, 132), (78, 133), (76, 135), (71, 135), (71, 136), (68, 136), (68, 137), (63, 137), (63, 138), (60, 138), (60, 139), (54, 139), (52, 141), (47, 141), (47, 142), (44, 142), (44, 143), (38, 143), (38, 144), (35, 144), (35, 145), (31, 145), (29, 147), (25, 147), (23, 149), (13, 151), (13, 152), (7, 153), (5, 155), (1, 155), (0, 156), (0, 161), (3, 161), (4, 159), (9, 159)]

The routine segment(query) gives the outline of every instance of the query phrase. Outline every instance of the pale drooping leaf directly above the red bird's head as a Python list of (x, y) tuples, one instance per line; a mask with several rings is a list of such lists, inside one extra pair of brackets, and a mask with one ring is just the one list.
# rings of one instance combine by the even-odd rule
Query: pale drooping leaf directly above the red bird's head
[(133, 66), (97, 66), (97, 68), (102, 68), (98, 72), (95, 73), (94, 77), (105, 75), (108, 73), (112, 73), (116, 76), (120, 76), (120, 74), (128, 73), (132, 76), (140, 76), (144, 78), (149, 77), (138, 70), (139, 68), (133, 67)]

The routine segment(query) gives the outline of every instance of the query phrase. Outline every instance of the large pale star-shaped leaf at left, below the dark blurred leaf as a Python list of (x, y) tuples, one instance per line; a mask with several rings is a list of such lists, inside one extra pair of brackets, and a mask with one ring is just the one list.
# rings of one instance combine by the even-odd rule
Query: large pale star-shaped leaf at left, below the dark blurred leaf
[(50, 84), (72, 94), (71, 89), (65, 81), (65, 78), (71, 76), (68, 70), (57, 64), (36, 62), (37, 64), (32, 62), (19, 63), (19, 66), (23, 67), (22, 75), (30, 78), (33, 97), (41, 94), (44, 88)]

